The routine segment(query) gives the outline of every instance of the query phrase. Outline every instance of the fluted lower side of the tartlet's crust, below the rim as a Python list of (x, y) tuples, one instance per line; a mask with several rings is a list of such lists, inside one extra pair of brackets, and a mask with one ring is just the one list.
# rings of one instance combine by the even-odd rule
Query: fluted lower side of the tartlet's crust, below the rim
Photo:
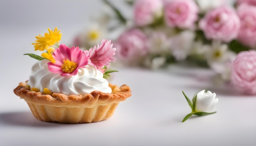
[(91, 123), (108, 119), (113, 115), (119, 103), (92, 108), (68, 108), (28, 103), (29, 108), (39, 120), (62, 123)]

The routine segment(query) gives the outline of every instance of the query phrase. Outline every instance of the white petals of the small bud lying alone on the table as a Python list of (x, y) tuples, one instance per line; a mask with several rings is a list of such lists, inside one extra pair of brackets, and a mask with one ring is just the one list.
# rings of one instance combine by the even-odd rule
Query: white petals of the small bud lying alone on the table
[(205, 92), (205, 90), (202, 90), (197, 93), (195, 111), (214, 112), (217, 103), (218, 98), (216, 98), (216, 93), (211, 93), (211, 91)]

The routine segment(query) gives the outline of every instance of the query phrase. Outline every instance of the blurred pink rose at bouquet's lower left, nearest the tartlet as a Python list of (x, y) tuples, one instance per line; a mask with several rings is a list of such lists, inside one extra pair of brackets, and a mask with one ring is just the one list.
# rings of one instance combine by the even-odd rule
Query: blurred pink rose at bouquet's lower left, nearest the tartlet
[(124, 32), (113, 44), (117, 48), (117, 58), (127, 61), (128, 64), (136, 63), (148, 52), (147, 37), (139, 29)]

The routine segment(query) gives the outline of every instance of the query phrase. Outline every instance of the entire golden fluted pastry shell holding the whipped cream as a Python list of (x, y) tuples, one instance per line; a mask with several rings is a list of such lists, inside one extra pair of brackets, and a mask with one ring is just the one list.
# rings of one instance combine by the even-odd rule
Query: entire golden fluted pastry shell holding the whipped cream
[(117, 105), (131, 96), (129, 86), (109, 84), (112, 93), (92, 91), (87, 95), (46, 95), (30, 91), (27, 83), (20, 83), (13, 92), (23, 98), (34, 117), (47, 122), (91, 123), (108, 119)]

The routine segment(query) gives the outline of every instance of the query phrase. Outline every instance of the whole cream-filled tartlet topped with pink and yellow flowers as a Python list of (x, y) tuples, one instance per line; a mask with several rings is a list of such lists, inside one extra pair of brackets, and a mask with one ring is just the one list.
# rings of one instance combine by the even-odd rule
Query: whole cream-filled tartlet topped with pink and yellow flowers
[(111, 40), (81, 50), (58, 44), (60, 31), (48, 29), (36, 36), (35, 51), (44, 51), (31, 69), (29, 80), (20, 83), (14, 93), (24, 99), (34, 117), (47, 122), (90, 123), (108, 119), (119, 102), (131, 96), (127, 85), (116, 86), (105, 79), (114, 62), (116, 49)]

